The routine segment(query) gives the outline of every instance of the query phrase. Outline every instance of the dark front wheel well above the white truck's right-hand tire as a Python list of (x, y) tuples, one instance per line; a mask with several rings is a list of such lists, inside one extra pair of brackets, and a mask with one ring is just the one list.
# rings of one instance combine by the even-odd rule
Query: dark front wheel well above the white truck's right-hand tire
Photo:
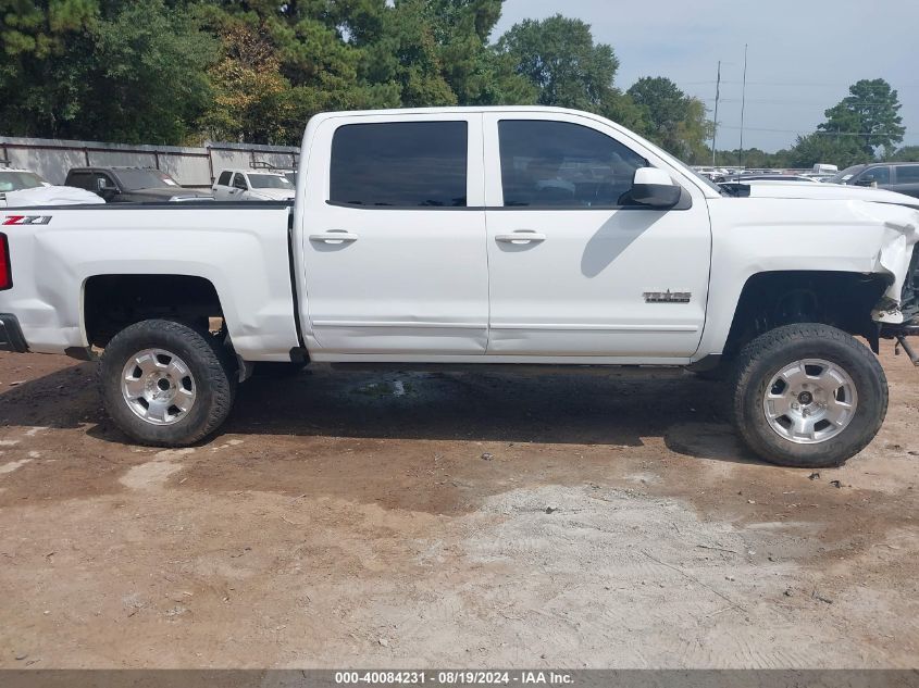
[(878, 327), (871, 309), (890, 279), (884, 275), (842, 272), (769, 272), (744, 285), (724, 355), (735, 355), (759, 335), (793, 323), (822, 323), (866, 337), (877, 351)]

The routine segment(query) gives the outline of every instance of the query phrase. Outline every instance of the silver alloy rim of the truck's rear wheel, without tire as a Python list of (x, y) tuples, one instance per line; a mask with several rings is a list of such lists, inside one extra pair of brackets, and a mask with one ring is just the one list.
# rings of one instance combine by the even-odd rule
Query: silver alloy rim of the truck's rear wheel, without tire
[(122, 397), (139, 418), (151, 425), (172, 425), (195, 405), (195, 376), (185, 361), (165, 349), (134, 354), (122, 374)]

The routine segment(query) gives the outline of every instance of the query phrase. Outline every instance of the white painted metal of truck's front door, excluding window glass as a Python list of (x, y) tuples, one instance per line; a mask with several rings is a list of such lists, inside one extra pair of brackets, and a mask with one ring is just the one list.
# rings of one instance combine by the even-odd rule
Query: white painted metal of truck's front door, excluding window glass
[[(485, 116), (488, 353), (691, 356), (705, 323), (711, 252), (704, 193), (684, 185), (693, 200), (687, 210), (501, 208), (498, 123), (506, 117), (545, 114)], [(597, 129), (651, 164), (663, 164), (654, 150), (592, 117), (558, 114), (554, 120)], [(498, 240), (514, 233), (521, 239), (538, 233), (541, 239)], [(645, 292), (667, 289), (690, 292), (690, 302), (646, 302)]]

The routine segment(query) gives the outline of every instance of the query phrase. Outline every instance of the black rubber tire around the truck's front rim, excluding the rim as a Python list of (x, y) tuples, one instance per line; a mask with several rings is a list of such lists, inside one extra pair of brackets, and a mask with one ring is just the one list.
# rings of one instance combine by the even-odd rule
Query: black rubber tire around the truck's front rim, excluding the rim
[[(855, 386), (857, 404), (848, 425), (818, 443), (797, 443), (780, 435), (763, 410), (766, 388), (786, 365), (819, 359), (844, 371)], [(850, 335), (812, 323), (785, 325), (749, 342), (732, 378), (734, 425), (763, 460), (782, 466), (837, 466), (874, 439), (887, 412), (887, 379), (871, 351)]]

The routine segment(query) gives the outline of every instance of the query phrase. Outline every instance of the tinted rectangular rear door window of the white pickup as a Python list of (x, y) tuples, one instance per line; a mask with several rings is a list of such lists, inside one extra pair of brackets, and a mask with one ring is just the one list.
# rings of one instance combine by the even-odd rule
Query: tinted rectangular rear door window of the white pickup
[(332, 139), (330, 200), (352, 205), (465, 205), (465, 122), (348, 124)]

